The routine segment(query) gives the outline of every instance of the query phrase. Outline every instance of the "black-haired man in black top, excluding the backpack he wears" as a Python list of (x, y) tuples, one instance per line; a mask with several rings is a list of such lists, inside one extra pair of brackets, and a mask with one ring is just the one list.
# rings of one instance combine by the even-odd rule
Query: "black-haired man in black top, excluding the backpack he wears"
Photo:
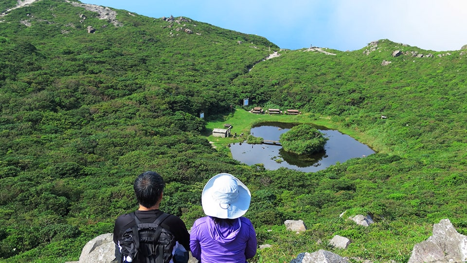
[[(140, 174), (133, 185), (139, 208), (134, 212), (134, 216), (141, 223), (153, 223), (163, 214), (159, 210), (162, 201), (162, 192), (164, 189), (164, 180), (157, 172), (146, 171)], [(128, 228), (136, 225), (133, 213), (121, 215), (115, 221), (113, 229), (113, 241), (116, 245), (115, 256), (118, 262), (122, 262), (122, 241), (123, 235)], [(161, 223), (162, 228), (170, 231), (175, 236), (176, 246), (182, 245), (184, 250), (190, 250), (190, 235), (186, 229), (185, 223), (174, 215), (169, 215)], [(183, 250), (183, 249), (182, 249)], [(125, 259), (124, 259), (125, 260)], [(131, 262), (132, 259), (127, 259)]]

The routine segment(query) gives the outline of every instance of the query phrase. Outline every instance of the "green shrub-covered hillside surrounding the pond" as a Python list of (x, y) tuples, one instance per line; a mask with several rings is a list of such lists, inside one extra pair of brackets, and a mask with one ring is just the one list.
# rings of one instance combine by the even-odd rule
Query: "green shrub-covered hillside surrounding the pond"
[[(78, 260), (137, 207), (132, 183), (145, 170), (162, 174), (162, 209), (188, 227), (203, 215), (210, 177), (240, 178), (258, 243), (272, 245), (250, 262), (326, 249), (405, 263), (441, 219), (467, 234), (466, 51), (388, 39), (352, 52), (280, 50), (189, 18), (112, 10), (40, 0), (0, 17), (0, 262)], [(215, 149), (206, 134), (238, 115), (258, 123), (243, 114), (245, 97), (300, 109), (293, 121), (339, 129), (377, 153), (316, 173), (242, 165), (230, 139)], [(345, 219), (357, 214), (376, 223)], [(307, 231), (287, 232), (287, 219)], [(348, 249), (325, 242), (336, 234)]]

